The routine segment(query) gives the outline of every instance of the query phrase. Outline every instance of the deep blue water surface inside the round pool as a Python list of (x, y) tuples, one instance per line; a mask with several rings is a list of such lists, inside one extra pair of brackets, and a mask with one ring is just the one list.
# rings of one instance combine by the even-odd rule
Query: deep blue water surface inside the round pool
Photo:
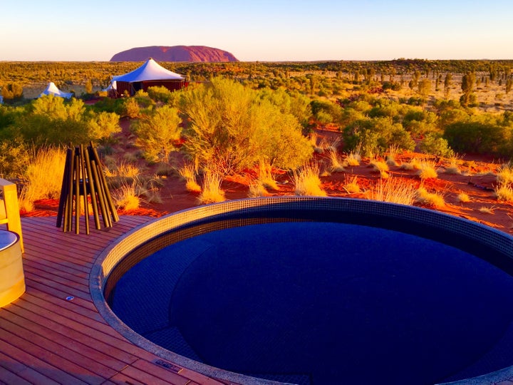
[(423, 237), (362, 225), (249, 225), (177, 242), (111, 307), (156, 344), (297, 384), (434, 384), (513, 362), (513, 279)]

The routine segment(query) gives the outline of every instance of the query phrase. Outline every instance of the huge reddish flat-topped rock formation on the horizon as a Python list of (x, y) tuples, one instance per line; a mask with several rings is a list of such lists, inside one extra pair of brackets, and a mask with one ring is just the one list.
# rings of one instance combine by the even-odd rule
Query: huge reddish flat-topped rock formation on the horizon
[(147, 46), (116, 53), (110, 61), (239, 61), (232, 53), (207, 46)]

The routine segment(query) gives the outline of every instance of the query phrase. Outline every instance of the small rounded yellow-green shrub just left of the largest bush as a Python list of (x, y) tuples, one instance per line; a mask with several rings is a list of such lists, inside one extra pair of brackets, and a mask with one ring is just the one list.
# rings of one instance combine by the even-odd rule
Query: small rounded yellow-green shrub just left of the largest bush
[(137, 120), (131, 127), (136, 136), (135, 145), (151, 162), (167, 162), (169, 154), (175, 150), (182, 128), (177, 108), (162, 106), (149, 115)]

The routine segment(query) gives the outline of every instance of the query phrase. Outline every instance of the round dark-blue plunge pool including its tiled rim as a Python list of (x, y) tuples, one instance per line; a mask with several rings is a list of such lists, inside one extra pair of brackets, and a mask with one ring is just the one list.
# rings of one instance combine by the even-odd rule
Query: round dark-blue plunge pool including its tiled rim
[(220, 379), (435, 384), (512, 364), (511, 247), (416, 207), (241, 200), (135, 230), (92, 289), (129, 339)]

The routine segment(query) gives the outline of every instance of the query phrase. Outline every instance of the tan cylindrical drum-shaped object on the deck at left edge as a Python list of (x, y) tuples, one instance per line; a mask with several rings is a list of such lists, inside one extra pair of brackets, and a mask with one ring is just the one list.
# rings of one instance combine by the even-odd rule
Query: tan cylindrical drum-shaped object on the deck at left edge
[(0, 230), (0, 307), (25, 292), (25, 276), (19, 235)]

